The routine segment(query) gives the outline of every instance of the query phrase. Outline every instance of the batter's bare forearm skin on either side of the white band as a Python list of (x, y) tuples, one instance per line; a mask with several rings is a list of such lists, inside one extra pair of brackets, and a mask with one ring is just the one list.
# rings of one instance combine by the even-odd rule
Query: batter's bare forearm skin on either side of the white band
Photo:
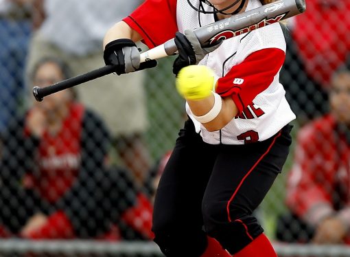
[[(213, 107), (214, 97), (211, 95), (202, 100), (187, 100), (187, 103), (189, 104), (189, 108), (194, 115), (202, 116), (208, 113)], [(238, 109), (232, 98), (224, 98), (222, 99), (222, 107), (218, 116), (211, 122), (202, 123), (202, 125), (208, 131), (218, 131), (226, 126), (226, 124), (228, 124), (233, 118), (235, 118), (237, 113)]]

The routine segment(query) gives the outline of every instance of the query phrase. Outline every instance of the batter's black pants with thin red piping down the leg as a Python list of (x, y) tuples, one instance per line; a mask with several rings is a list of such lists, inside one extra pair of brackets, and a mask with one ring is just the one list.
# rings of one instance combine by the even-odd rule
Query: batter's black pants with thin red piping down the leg
[(154, 203), (154, 241), (165, 256), (200, 256), (207, 234), (231, 254), (263, 229), (252, 215), (281, 172), (291, 126), (264, 142), (211, 145), (191, 120), (179, 133)]

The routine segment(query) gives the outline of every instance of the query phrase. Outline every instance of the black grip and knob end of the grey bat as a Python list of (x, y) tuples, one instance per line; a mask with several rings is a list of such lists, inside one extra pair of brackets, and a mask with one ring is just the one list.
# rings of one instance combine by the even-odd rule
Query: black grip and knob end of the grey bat
[(43, 101), (45, 96), (49, 96), (51, 95), (51, 93), (56, 93), (64, 89), (68, 89), (69, 87), (80, 85), (89, 80), (94, 80), (95, 78), (100, 78), (107, 74), (111, 74), (114, 71), (115, 67), (113, 65), (106, 65), (99, 69), (89, 71), (86, 74), (78, 75), (73, 78), (68, 78), (67, 80), (62, 80), (48, 87), (33, 87), (33, 95), (38, 102), (41, 102)]

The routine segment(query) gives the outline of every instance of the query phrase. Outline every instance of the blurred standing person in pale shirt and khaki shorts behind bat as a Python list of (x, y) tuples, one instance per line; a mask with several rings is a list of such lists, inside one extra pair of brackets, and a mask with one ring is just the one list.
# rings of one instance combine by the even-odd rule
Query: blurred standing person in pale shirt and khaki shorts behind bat
[[(27, 71), (43, 56), (59, 56), (72, 67), (73, 76), (104, 66), (104, 34), (141, 3), (141, 0), (42, 1), (42, 8), (36, 10), (43, 9), (45, 19), (32, 38)], [(110, 74), (76, 87), (80, 100), (105, 120), (117, 157), (140, 185), (150, 169), (148, 147), (143, 139), (148, 129), (144, 78), (144, 71), (128, 76)]]

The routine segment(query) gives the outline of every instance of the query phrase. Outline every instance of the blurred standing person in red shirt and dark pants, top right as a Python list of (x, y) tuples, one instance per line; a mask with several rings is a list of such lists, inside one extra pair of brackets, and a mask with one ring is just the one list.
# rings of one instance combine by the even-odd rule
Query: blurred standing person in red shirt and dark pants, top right
[(301, 124), (328, 111), (329, 79), (350, 49), (349, 11), (348, 0), (307, 0), (305, 13), (288, 20), (281, 83)]

